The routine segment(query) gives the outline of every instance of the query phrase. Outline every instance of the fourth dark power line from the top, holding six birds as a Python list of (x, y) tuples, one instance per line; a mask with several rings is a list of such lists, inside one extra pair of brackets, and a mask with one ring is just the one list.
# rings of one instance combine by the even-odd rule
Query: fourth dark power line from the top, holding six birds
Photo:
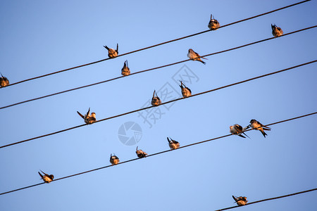
[[(314, 112), (314, 113), (309, 113), (309, 114), (306, 114), (306, 115), (301, 115), (301, 116), (298, 116), (298, 117), (293, 117), (293, 118), (290, 118), (290, 119), (287, 119), (287, 120), (281, 120), (279, 122), (274, 122), (274, 123), (271, 123), (271, 124), (266, 124), (265, 126), (271, 126), (273, 124), (280, 124), (282, 122), (288, 122), (288, 121), (291, 121), (291, 120), (297, 120), (299, 118), (302, 118), (302, 117), (308, 117), (310, 115), (316, 115), (317, 112)], [(250, 131), (251, 129), (247, 129), (245, 132), (248, 132)], [(216, 137), (216, 138), (213, 138), (213, 139), (208, 139), (208, 140), (205, 140), (205, 141), (199, 141), (199, 142), (196, 142), (196, 143), (191, 143), (191, 144), (188, 144), (188, 145), (185, 145), (185, 146), (180, 146), (180, 148), (186, 148), (186, 147), (189, 147), (189, 146), (194, 146), (194, 145), (197, 145), (197, 144), (200, 144), (200, 143), (205, 143), (205, 142), (209, 142), (209, 141), (214, 141), (216, 139), (223, 139), (225, 137), (228, 137), (228, 136), (232, 136), (232, 134), (227, 134), (225, 136), (219, 136), (219, 137)], [(154, 154), (151, 154), (151, 155), (147, 155), (147, 157), (151, 157), (151, 156), (154, 156), (154, 155), (159, 155), (159, 154), (163, 154), (163, 153), (168, 153), (168, 152), (171, 152), (170, 150), (167, 150), (167, 151), (161, 151), (159, 153), (154, 153)], [(141, 158), (134, 158), (132, 160), (125, 160), (123, 162), (119, 162), (117, 165), (121, 165), (123, 163), (126, 163), (126, 162), (132, 162), (132, 161), (135, 161), (135, 160), (139, 160)], [(94, 171), (97, 171), (97, 170), (102, 170), (102, 169), (105, 169), (107, 167), (112, 167), (113, 165), (106, 165), (104, 167), (99, 167), (97, 169), (94, 169), (94, 170), (88, 170), (86, 172), (80, 172), (80, 173), (77, 173), (77, 174), (72, 174), (72, 175), (69, 175), (69, 176), (66, 176), (66, 177), (61, 177), (61, 178), (58, 178), (58, 179), (55, 179), (53, 181), (58, 181), (58, 180), (61, 180), (61, 179), (67, 179), (67, 178), (70, 178), (70, 177), (75, 177), (75, 176), (78, 176), (80, 174), (86, 174), (86, 173), (89, 173), (89, 172), (94, 172)], [(45, 184), (44, 182), (42, 183), (39, 183), (39, 184), (34, 184), (32, 186), (26, 186), (24, 188), (18, 188), (18, 189), (15, 189), (15, 190), (12, 190), (12, 191), (7, 191), (7, 192), (4, 192), (4, 193), (0, 193), (0, 195), (4, 195), (4, 194), (7, 194), (7, 193), (12, 193), (12, 192), (15, 192), (15, 191), (20, 191), (20, 190), (23, 190), (23, 189), (26, 189), (26, 188), (32, 188), (34, 186), (39, 186), (39, 185), (42, 185), (42, 184)], [(254, 202), (255, 203), (255, 202)], [(251, 203), (249, 203), (251, 204)], [(226, 208), (228, 209), (228, 208)]]

